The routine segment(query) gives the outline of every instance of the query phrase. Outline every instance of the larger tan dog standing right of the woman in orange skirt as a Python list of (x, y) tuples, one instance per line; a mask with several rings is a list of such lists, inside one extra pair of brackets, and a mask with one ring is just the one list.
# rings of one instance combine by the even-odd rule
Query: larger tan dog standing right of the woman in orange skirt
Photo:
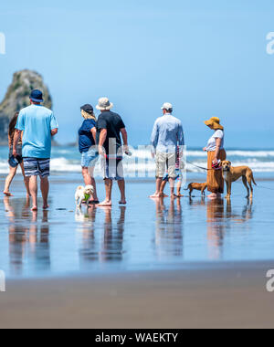
[[(230, 199), (231, 196), (231, 185), (233, 182), (236, 182), (239, 178), (242, 177), (243, 179), (243, 184), (248, 190), (248, 196), (247, 198), (250, 197), (250, 199), (253, 198), (253, 184), (257, 185), (252, 170), (248, 166), (239, 166), (239, 167), (233, 167), (231, 162), (225, 161), (222, 162), (222, 172), (223, 172), (223, 177), (224, 180), (226, 181), (227, 184), (227, 199)], [(249, 184), (249, 187), (248, 187)], [(250, 195), (250, 190), (251, 190), (251, 195)]]

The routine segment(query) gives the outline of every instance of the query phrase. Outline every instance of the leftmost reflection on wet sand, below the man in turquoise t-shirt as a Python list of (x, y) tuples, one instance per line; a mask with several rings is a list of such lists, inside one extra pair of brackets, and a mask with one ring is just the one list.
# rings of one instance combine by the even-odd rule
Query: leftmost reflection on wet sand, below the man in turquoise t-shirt
[[(47, 211), (43, 211), (38, 227), (37, 212), (30, 212), (29, 201), (4, 199), (5, 213), (8, 217), (10, 273), (21, 275), (26, 268), (34, 271), (50, 269), (49, 226)], [(21, 221), (21, 222), (20, 222)], [(19, 223), (18, 223), (19, 222)], [(29, 270), (29, 269), (27, 269)]]

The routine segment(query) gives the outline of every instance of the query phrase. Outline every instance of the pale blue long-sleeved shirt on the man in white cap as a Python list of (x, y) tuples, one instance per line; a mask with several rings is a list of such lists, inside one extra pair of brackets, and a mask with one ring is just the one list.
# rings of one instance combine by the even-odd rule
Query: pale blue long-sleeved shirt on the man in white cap
[(176, 152), (177, 146), (184, 146), (182, 121), (172, 114), (165, 114), (155, 121), (152, 134), (154, 152)]

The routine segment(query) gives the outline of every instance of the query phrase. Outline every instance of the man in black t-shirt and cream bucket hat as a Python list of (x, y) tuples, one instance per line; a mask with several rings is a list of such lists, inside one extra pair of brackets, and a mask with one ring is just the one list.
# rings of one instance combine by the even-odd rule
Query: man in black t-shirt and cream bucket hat
[(113, 180), (118, 181), (121, 191), (120, 204), (126, 205), (125, 181), (121, 161), (123, 152), (129, 152), (128, 135), (121, 117), (119, 114), (111, 111), (112, 107), (113, 104), (107, 98), (101, 98), (97, 105), (97, 110), (101, 111), (97, 123), (97, 132), (99, 134), (99, 152), (104, 159), (104, 181), (106, 187), (106, 200), (100, 206), (112, 205)]

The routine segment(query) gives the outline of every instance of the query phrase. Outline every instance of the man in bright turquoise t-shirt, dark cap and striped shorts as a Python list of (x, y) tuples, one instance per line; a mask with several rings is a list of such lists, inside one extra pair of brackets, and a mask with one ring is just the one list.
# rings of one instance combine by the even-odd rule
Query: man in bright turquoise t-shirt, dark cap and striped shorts
[(33, 200), (32, 211), (37, 211), (37, 176), (41, 178), (43, 208), (48, 208), (47, 177), (49, 176), (51, 137), (58, 133), (58, 122), (52, 110), (41, 106), (43, 101), (43, 93), (40, 90), (35, 89), (31, 92), (31, 105), (20, 111), (14, 139), (13, 154), (16, 156), (16, 145), (23, 131), (24, 169), (26, 184), (29, 186)]

